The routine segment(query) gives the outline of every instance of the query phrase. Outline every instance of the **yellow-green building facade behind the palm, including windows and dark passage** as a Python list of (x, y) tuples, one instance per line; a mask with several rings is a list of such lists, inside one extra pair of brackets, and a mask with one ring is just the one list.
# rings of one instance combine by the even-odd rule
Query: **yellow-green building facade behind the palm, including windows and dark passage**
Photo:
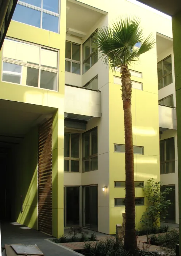
[[(0, 52), (0, 148), (9, 180), (1, 214), (54, 237), (73, 225), (113, 234), (125, 211), (121, 79), (93, 54), (92, 36), (127, 16), (138, 16), (155, 41), (158, 33), (172, 37), (172, 24), (127, 0), (44, 1), (18, 1)], [(155, 44), (130, 66), (136, 227), (147, 206), (142, 187), (159, 181), (157, 55)]]

